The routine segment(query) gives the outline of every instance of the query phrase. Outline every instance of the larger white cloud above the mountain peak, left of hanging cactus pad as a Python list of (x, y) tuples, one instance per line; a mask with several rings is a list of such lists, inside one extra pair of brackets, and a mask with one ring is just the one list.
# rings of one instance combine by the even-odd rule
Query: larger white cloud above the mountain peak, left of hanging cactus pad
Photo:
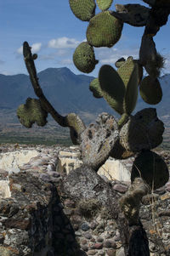
[(49, 48), (76, 48), (81, 43), (75, 38), (59, 37), (48, 42)]

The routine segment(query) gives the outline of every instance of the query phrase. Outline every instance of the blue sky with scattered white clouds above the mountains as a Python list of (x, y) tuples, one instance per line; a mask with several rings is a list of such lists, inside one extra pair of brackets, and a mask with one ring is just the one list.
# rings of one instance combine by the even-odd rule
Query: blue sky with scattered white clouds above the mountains
[[(142, 1), (114, 0), (115, 3), (140, 3)], [(147, 6), (146, 4), (144, 4)], [(97, 13), (99, 9), (97, 9)], [(66, 66), (81, 74), (72, 62), (72, 54), (79, 43), (86, 39), (88, 22), (78, 20), (71, 12), (69, 0), (0, 0), (0, 73), (27, 74), (22, 57), (22, 43), (27, 41), (38, 54), (37, 71), (48, 67)], [(144, 27), (124, 25), (122, 37), (112, 48), (94, 48), (99, 64), (90, 76), (97, 77), (99, 67), (114, 65), (121, 57), (138, 58)], [(157, 51), (166, 60), (162, 73), (170, 73), (170, 27), (161, 27), (154, 37)]]

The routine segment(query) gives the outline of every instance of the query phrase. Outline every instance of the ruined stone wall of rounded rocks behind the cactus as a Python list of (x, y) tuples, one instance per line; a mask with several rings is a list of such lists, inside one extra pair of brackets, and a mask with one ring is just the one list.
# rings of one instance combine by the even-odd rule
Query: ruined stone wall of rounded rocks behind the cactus
[[(110, 209), (99, 205), (96, 198), (77, 202), (65, 194), (65, 175), (82, 164), (78, 148), (1, 145), (0, 151), (0, 161), (10, 152), (18, 156), (27, 151), (26, 156), (28, 152), (31, 156), (22, 164), (15, 162), (13, 169), (11, 162), (9, 168), (4, 163), (0, 166), (0, 255), (123, 255)], [(161, 153), (168, 163), (168, 152)], [(114, 160), (109, 161), (117, 166)], [(120, 163), (121, 174), (112, 172), (109, 179), (100, 174), (120, 195), (127, 191), (131, 162)], [(140, 215), (150, 255), (169, 255), (170, 182), (144, 196)]]

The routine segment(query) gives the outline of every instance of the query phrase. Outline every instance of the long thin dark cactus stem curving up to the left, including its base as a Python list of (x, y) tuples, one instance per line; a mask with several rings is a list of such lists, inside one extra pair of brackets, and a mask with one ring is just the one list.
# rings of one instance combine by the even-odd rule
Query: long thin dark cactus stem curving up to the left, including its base
[(44, 111), (47, 111), (54, 118), (56, 122), (59, 123), (62, 127), (71, 128), (71, 139), (73, 144), (79, 144), (80, 134), (86, 128), (85, 124), (82, 122), (81, 118), (78, 117), (75, 113), (70, 113), (66, 117), (59, 115), (55, 111), (53, 105), (51, 105), (42, 92), (42, 88), (39, 85), (36, 66), (34, 64), (34, 54), (31, 54), (31, 47), (27, 42), (23, 44), (23, 55), (26, 63), (27, 71), (30, 75), (31, 84), (34, 89), (35, 94), (39, 98), (42, 108)]

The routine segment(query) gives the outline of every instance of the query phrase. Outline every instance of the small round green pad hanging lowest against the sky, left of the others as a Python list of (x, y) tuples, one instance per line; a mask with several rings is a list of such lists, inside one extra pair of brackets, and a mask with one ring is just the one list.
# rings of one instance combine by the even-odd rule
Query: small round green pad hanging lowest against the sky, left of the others
[(73, 54), (73, 62), (79, 71), (90, 73), (94, 70), (99, 60), (95, 60), (94, 48), (87, 42), (82, 42), (77, 46)]

